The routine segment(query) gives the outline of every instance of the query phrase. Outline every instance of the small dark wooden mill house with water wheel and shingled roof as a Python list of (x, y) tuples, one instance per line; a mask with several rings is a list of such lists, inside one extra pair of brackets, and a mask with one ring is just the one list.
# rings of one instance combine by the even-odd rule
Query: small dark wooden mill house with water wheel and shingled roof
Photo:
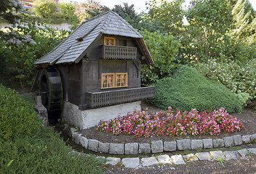
[(48, 112), (80, 129), (141, 109), (141, 99), (154, 97), (154, 86), (141, 86), (141, 64), (153, 63), (141, 34), (112, 11), (86, 20), (35, 62)]

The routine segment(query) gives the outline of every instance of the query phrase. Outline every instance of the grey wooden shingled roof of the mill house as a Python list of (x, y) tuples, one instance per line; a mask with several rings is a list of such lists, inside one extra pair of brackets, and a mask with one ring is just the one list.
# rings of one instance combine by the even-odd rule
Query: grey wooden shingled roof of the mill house
[(108, 11), (82, 22), (62, 43), (44, 57), (37, 59), (35, 64), (78, 63), (84, 57), (88, 46), (102, 34), (135, 38), (146, 56), (146, 63), (154, 63), (141, 34), (117, 13)]

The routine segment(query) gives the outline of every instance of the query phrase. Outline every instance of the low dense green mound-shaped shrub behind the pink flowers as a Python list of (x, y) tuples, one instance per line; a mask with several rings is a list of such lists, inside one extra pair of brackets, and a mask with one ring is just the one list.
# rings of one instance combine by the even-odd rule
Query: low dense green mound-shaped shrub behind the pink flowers
[(154, 84), (155, 97), (148, 101), (157, 107), (183, 111), (195, 108), (206, 110), (224, 107), (228, 112), (241, 112), (241, 101), (220, 82), (212, 82), (196, 69), (180, 67), (172, 78), (163, 78)]

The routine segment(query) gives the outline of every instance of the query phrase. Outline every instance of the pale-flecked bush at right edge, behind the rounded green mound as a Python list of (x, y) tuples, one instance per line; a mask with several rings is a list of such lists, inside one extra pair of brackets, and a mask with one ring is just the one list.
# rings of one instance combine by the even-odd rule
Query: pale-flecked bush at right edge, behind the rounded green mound
[(197, 62), (194, 67), (213, 81), (219, 81), (235, 93), (246, 104), (249, 99), (256, 98), (255, 60), (239, 65), (234, 61), (220, 62), (210, 59), (207, 62)]

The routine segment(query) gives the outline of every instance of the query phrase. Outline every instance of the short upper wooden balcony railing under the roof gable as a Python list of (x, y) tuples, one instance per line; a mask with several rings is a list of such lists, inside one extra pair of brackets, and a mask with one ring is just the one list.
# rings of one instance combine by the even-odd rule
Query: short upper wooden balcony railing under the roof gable
[(136, 47), (103, 46), (102, 59), (136, 59)]

